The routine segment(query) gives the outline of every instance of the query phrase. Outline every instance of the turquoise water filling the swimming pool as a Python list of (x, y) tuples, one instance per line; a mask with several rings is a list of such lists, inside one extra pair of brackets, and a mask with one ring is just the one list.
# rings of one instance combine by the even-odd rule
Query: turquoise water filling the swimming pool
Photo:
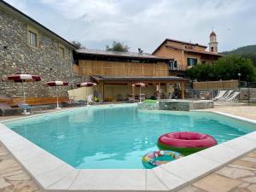
[(218, 143), (253, 129), (213, 113), (138, 111), (90, 107), (4, 123), (32, 143), (76, 168), (143, 168), (144, 154), (157, 150), (160, 135), (199, 131)]

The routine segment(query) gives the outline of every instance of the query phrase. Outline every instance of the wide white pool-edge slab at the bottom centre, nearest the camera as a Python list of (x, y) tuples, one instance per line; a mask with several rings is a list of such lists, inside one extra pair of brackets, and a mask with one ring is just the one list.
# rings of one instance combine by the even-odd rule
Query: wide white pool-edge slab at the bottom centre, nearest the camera
[(146, 170), (81, 170), (69, 190), (145, 191)]

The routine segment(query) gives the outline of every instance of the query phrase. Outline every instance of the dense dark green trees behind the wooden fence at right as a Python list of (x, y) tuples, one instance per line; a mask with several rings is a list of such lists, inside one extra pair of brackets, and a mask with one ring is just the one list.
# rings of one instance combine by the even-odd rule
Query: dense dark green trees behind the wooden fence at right
[(212, 64), (198, 64), (186, 71), (186, 77), (198, 81), (238, 79), (241, 73), (242, 81), (256, 81), (256, 71), (253, 61), (239, 55), (227, 55)]

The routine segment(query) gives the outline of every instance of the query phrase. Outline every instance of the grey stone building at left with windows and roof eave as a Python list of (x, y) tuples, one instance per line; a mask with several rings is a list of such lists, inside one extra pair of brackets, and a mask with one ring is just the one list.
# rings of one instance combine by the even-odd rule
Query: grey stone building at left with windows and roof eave
[[(41, 75), (42, 82), (26, 83), (26, 96), (55, 96), (43, 85), (50, 80), (73, 80), (75, 47), (55, 32), (0, 0), (0, 78), (14, 73)], [(0, 81), (0, 95), (22, 96), (21, 84)], [(67, 96), (67, 88), (60, 91)]]

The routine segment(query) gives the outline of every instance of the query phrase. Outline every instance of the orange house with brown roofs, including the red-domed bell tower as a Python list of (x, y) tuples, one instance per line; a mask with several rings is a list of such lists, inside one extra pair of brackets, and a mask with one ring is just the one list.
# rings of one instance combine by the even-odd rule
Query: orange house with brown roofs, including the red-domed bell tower
[(166, 38), (166, 40), (154, 50), (153, 55), (166, 59), (172, 58), (173, 60), (169, 63), (171, 75), (183, 76), (184, 71), (189, 67), (193, 67), (198, 63), (212, 63), (222, 56), (217, 52), (218, 42), (215, 32), (211, 32), (210, 34), (209, 48), (209, 51), (207, 51), (207, 46), (205, 45)]

